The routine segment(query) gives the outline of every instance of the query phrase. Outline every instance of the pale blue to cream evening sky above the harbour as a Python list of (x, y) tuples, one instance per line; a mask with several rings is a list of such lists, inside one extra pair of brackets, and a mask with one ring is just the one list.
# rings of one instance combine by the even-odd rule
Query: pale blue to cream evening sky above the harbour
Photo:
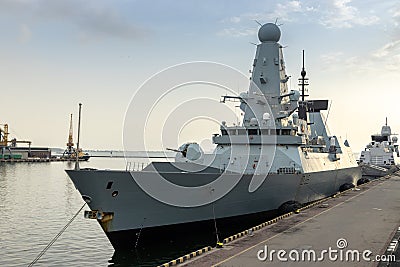
[[(130, 100), (155, 73), (211, 61), (249, 75), (256, 21), (280, 25), (290, 89), (306, 51), (311, 98), (332, 101), (329, 128), (354, 151), (385, 117), (400, 132), (400, 2), (391, 0), (0, 0), (0, 124), (63, 148), (82, 103), (82, 147), (123, 149)], [(192, 126), (181, 132), (215, 133)]]

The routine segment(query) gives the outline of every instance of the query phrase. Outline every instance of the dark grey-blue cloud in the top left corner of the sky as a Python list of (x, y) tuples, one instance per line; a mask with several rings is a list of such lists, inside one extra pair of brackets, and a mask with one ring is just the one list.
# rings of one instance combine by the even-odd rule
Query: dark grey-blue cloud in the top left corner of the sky
[(74, 25), (80, 36), (89, 39), (120, 38), (140, 40), (146, 31), (102, 1), (0, 0), (0, 13), (16, 14), (33, 22)]

